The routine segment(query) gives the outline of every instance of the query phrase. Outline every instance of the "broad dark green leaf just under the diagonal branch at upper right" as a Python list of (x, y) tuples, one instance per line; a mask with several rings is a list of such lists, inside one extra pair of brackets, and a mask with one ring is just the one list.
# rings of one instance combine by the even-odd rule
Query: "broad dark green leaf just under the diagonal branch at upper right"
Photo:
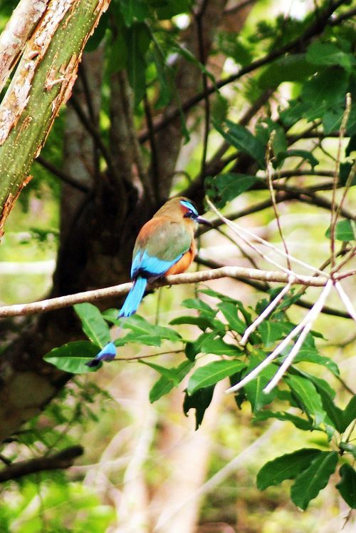
[(303, 81), (315, 73), (315, 66), (306, 61), (305, 54), (293, 54), (273, 61), (258, 78), (263, 88), (278, 87), (283, 81)]

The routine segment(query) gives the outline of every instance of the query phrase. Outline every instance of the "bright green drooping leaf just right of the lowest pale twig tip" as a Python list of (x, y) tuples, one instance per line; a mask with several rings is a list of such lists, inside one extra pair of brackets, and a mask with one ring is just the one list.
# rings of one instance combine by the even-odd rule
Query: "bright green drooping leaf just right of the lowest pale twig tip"
[(306, 414), (314, 417), (314, 427), (318, 427), (325, 419), (326, 412), (313, 382), (294, 375), (288, 375), (285, 379), (290, 390), (303, 405)]

